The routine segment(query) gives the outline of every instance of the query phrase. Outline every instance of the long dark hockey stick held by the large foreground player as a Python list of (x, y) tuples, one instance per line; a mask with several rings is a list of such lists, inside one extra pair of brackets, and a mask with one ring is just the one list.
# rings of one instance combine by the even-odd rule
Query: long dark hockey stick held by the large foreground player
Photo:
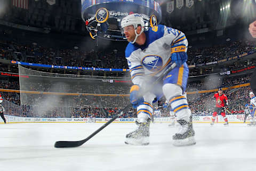
[[(155, 82), (149, 86), (145, 91), (141, 92), (139, 94), (139, 96), (143, 96), (143, 94), (145, 94), (146, 92), (150, 91), (151, 89), (154, 88), (154, 86), (160, 82), (171, 70), (173, 70), (176, 67), (176, 63), (172, 63), (171, 66), (169, 68), (167, 68), (163, 74), (161, 76), (159, 76)], [(81, 140), (81, 141), (57, 141), (54, 144), (55, 148), (70, 148), (70, 147), (77, 147), (80, 146), (82, 144), (84, 144), (86, 141), (90, 140), (94, 135), (98, 134), (102, 129), (104, 129), (106, 126), (108, 126), (110, 123), (112, 123), (116, 118), (118, 118), (119, 116), (122, 116), (124, 114), (124, 112), (126, 112), (127, 110), (129, 110), (129, 108), (132, 107), (132, 104), (128, 104), (123, 110), (122, 112), (120, 112), (118, 115), (114, 116), (112, 119), (110, 119), (107, 123), (105, 123), (104, 125), (102, 125), (99, 129), (97, 129), (95, 132), (93, 132), (91, 135), (89, 135), (86, 139)]]

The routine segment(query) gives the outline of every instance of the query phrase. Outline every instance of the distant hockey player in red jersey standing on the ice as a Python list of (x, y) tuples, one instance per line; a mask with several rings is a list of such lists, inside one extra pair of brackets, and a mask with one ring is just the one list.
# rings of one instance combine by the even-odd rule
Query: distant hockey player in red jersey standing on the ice
[(215, 93), (213, 97), (216, 98), (216, 103), (215, 103), (214, 112), (212, 114), (211, 125), (214, 124), (216, 116), (221, 114), (221, 116), (226, 122), (224, 125), (228, 126), (228, 118), (226, 116), (225, 109), (224, 109), (228, 105), (228, 97), (225, 94), (223, 94), (222, 88), (219, 88), (218, 93)]

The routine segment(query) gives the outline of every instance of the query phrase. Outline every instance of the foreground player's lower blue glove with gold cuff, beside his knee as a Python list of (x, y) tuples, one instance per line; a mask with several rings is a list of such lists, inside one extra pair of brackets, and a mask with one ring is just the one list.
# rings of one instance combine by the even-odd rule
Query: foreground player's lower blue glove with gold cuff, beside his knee
[(138, 96), (140, 93), (140, 86), (133, 85), (130, 89), (130, 102), (132, 103), (133, 108), (137, 108), (140, 104), (143, 104), (143, 97)]

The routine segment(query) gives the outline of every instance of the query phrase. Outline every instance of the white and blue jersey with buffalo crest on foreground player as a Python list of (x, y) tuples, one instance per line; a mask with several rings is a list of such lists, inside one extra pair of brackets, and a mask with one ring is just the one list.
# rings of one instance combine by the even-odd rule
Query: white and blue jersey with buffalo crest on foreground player
[(183, 32), (158, 25), (145, 31), (142, 46), (129, 43), (125, 50), (133, 84), (142, 86), (146, 76), (159, 76), (171, 63), (171, 47), (186, 48), (188, 41)]

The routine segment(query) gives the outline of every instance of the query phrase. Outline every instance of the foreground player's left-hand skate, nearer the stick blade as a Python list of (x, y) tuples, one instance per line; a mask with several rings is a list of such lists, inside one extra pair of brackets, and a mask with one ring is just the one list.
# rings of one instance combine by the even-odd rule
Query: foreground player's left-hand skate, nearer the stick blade
[(138, 125), (137, 129), (126, 135), (125, 144), (148, 145), (150, 119), (147, 119), (145, 123), (136, 121), (136, 124)]

